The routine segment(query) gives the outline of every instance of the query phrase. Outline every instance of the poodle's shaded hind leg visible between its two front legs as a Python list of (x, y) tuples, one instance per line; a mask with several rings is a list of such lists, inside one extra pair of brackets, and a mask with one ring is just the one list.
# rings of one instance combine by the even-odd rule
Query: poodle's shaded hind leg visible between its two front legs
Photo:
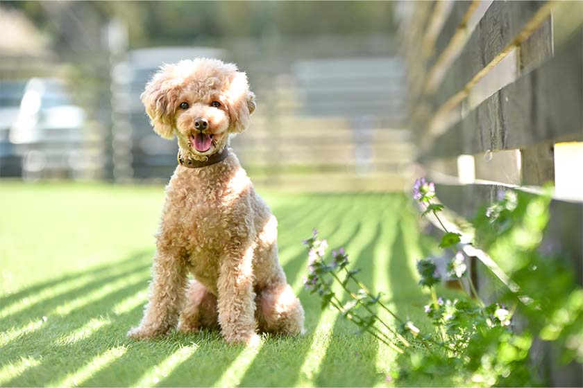
[(186, 291), (186, 303), (180, 312), (178, 330), (196, 333), (201, 328), (219, 328), (217, 297), (198, 281), (191, 280)]

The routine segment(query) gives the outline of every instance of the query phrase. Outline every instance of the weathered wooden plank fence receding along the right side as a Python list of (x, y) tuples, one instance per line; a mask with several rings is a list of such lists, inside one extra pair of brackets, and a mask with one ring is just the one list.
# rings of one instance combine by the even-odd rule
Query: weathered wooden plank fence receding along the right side
[[(398, 11), (408, 126), (439, 200), (471, 219), (508, 187), (536, 193), (551, 182), (543, 244), (581, 284), (583, 2), (419, 1)], [(554, 385), (583, 385), (580, 366), (549, 369)]]

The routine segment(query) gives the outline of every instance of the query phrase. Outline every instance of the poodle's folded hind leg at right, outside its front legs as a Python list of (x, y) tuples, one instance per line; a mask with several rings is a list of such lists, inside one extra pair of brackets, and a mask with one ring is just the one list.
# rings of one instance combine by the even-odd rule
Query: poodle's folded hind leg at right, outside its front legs
[(304, 333), (304, 311), (289, 284), (271, 285), (257, 294), (257, 323), (266, 333)]

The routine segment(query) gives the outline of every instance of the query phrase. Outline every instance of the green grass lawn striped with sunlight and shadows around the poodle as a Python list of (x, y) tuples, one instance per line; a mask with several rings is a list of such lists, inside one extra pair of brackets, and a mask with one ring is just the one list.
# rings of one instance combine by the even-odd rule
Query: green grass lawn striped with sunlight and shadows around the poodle
[[(162, 187), (0, 183), (1, 386), (387, 385), (396, 353), (303, 290), (301, 240), (317, 227), (360, 279), (423, 326), (415, 261), (432, 244), (396, 194), (262, 193), (279, 220), (280, 261), (307, 334), (230, 346), (217, 332), (135, 342)], [(385, 317), (388, 319), (388, 317)], [(411, 384), (421, 384), (412, 380)], [(433, 382), (435, 384), (436, 382)]]

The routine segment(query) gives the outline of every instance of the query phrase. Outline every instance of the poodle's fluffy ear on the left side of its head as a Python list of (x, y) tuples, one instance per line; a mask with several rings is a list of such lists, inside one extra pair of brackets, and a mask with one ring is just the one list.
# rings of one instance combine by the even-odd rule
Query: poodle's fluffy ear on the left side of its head
[(140, 96), (154, 131), (164, 139), (174, 137), (174, 113), (178, 105), (181, 82), (182, 78), (174, 76), (171, 66), (162, 67)]

